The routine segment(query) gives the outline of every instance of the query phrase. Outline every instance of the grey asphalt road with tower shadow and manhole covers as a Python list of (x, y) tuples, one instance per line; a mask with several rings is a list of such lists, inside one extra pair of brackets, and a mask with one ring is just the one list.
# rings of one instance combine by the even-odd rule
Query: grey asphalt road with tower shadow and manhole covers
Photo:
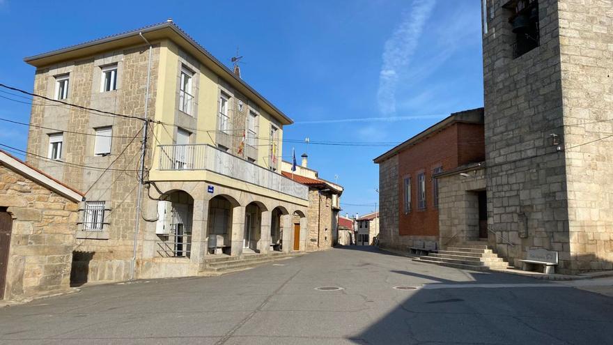
[(613, 344), (613, 298), (346, 247), (4, 307), (0, 344)]

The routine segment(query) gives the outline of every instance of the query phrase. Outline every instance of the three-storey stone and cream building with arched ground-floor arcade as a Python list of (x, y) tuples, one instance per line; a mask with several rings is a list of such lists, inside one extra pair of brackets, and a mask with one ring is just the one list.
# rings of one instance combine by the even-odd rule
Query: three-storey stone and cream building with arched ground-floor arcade
[(312, 245), (309, 188), (281, 174), (292, 120), (171, 20), (25, 61), (34, 93), (80, 106), (34, 102), (27, 148), (85, 192), (74, 283), (206, 275)]

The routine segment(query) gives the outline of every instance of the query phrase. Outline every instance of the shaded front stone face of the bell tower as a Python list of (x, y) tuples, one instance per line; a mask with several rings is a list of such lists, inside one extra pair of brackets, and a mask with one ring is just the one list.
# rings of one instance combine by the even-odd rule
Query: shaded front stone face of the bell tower
[(541, 45), (516, 59), (506, 2), (488, 2), (483, 34), (488, 226), (513, 243), (497, 246), (511, 264), (542, 247), (568, 273), (566, 158), (550, 138), (564, 141), (558, 1), (538, 1)]

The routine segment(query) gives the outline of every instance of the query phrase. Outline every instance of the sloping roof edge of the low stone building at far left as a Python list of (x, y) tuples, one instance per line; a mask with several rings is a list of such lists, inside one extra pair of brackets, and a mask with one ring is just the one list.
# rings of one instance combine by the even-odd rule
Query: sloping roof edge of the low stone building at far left
[(85, 194), (82, 192), (57, 181), (55, 178), (52, 178), (35, 167), (32, 167), (30, 164), (2, 150), (0, 150), (0, 164), (15, 171), (17, 174), (29, 178), (31, 181), (44, 185), (49, 190), (53, 190), (72, 201), (79, 202), (85, 199)]

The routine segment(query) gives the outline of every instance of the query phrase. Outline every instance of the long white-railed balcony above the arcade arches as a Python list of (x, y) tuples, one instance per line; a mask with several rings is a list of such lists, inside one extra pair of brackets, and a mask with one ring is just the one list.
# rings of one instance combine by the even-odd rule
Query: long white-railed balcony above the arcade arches
[(309, 187), (207, 144), (158, 145), (159, 170), (206, 170), (307, 200)]

